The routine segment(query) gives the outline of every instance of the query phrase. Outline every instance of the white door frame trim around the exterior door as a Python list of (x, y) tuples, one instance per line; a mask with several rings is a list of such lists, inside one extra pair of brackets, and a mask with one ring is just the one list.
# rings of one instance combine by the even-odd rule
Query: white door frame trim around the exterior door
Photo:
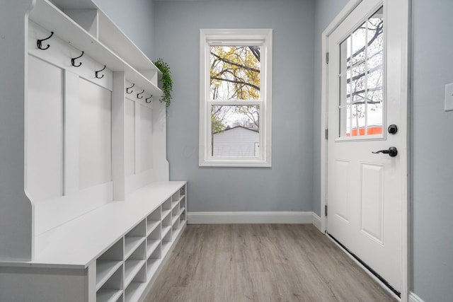
[[(392, 0), (383, 0), (383, 2)], [(393, 0), (394, 1), (394, 0)], [(345, 18), (362, 2), (362, 0), (350, 0), (345, 7), (338, 13), (336, 18), (327, 26), (323, 31), (321, 37), (321, 58), (322, 58), (322, 70), (321, 70), (321, 232), (326, 233), (327, 216), (325, 213), (325, 206), (327, 202), (327, 155), (328, 155), (328, 144), (326, 139), (326, 129), (328, 129), (328, 64), (326, 64), (326, 53), (328, 52), (328, 37), (333, 33), (338, 25), (342, 23)], [(405, 75), (401, 82), (403, 83), (404, 89), (401, 89), (401, 108), (406, 110), (406, 115), (403, 116), (401, 124), (406, 127), (406, 137), (403, 137), (403, 149), (406, 149), (406, 161), (401, 163), (401, 167), (406, 169), (406, 178), (403, 180), (403, 204), (402, 204), (402, 234), (403, 240), (401, 245), (401, 259), (402, 259), (402, 288), (401, 288), (401, 302), (408, 301), (409, 295), (409, 167), (410, 167), (410, 152), (409, 152), (409, 112), (408, 112), (408, 98), (409, 98), (409, 79), (410, 79), (410, 22), (411, 22), (411, 0), (398, 0), (398, 11), (401, 16), (401, 32), (406, 33), (402, 35), (403, 50), (401, 51), (401, 68)], [(404, 120), (405, 119), (405, 120)], [(331, 135), (331, 134), (330, 134)], [(365, 269), (365, 267), (363, 267)], [(367, 271), (367, 269), (365, 269)], [(368, 271), (367, 271), (368, 272)]]

